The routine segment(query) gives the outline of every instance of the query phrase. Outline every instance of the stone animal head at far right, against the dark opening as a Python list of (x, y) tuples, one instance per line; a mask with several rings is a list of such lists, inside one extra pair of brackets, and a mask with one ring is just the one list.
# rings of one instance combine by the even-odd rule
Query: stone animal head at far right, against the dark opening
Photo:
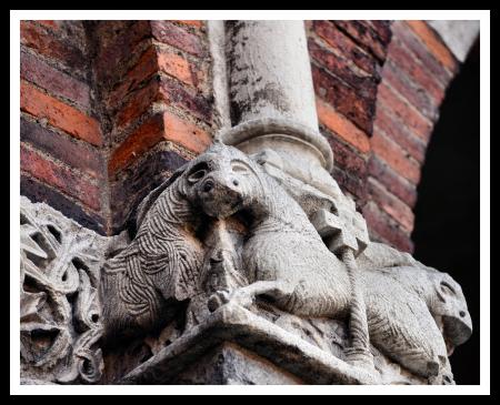
[(430, 310), (442, 333), (449, 355), (472, 334), (472, 320), (460, 285), (447, 273), (429, 272), (432, 281)]

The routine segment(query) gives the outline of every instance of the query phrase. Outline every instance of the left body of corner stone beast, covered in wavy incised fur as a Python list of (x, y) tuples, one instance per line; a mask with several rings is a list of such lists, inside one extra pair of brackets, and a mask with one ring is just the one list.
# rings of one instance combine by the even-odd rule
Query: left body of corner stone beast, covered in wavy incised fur
[(106, 336), (127, 336), (164, 324), (177, 305), (199, 293), (208, 217), (198, 209), (199, 180), (213, 152), (180, 168), (137, 210), (133, 241), (102, 269)]

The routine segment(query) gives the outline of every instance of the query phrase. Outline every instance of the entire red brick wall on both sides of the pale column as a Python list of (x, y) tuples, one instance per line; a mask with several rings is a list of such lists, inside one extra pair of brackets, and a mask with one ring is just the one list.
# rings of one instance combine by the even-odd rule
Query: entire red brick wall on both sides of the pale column
[[(308, 21), (332, 175), (412, 251), (417, 185), (458, 63), (422, 21)], [(21, 22), (21, 193), (103, 234), (217, 131), (203, 21)]]

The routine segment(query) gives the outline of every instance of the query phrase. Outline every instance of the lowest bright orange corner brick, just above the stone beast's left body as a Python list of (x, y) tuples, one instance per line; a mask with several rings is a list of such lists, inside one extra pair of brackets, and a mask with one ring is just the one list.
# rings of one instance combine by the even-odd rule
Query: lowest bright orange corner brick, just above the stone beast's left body
[(211, 143), (204, 130), (166, 111), (144, 121), (114, 150), (108, 165), (110, 175), (128, 166), (162, 139), (196, 153), (201, 153)]

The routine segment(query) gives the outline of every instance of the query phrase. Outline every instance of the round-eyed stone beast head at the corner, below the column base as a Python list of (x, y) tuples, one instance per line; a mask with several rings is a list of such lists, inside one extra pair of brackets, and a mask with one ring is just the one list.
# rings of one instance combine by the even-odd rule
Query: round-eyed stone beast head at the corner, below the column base
[(249, 206), (262, 189), (262, 172), (248, 155), (216, 143), (182, 174), (184, 193), (210, 216), (223, 219)]

